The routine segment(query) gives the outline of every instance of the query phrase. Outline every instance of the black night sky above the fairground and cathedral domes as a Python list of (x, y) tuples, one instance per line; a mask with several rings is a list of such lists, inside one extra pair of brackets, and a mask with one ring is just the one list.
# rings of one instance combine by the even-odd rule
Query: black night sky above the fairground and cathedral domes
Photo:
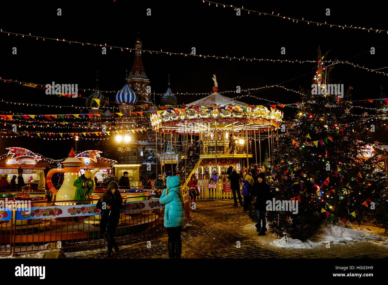
[[(379, 69), (387, 66), (388, 35), (386, 32), (375, 33), (361, 29), (343, 29), (329, 26), (317, 26), (306, 22), (293, 22), (272, 16), (259, 16), (257, 13), (236, 11), (230, 7), (209, 6), (202, 0), (184, 2), (116, 0), (79, 3), (70, 5), (60, 2), (11, 2), (2, 4), (0, 11), (0, 28), (3, 31), (22, 33), (62, 40), (81, 41), (134, 48), (138, 33), (143, 41), (142, 49), (163, 50), (177, 53), (219, 55), (228, 57), (316, 60), (320, 47), (322, 54), (328, 53), (327, 59), (349, 61), (354, 64)], [(327, 4), (326, 4), (327, 3)], [(277, 2), (235, 1), (226, 4), (237, 7), (267, 12), (293, 18), (304, 18), (317, 22), (339, 25), (353, 25), (365, 28), (387, 29), (386, 11), (379, 4), (362, 6), (344, 5), (337, 2), (307, 2), (281, 4)], [(57, 16), (57, 9), (62, 9), (62, 16)], [(151, 16), (147, 16), (147, 9)], [(325, 16), (326, 8), (331, 9), (331, 16)], [(62, 43), (52, 40), (29, 38), (0, 33), (0, 77), (19, 81), (47, 84), (77, 83), (83, 97), (91, 92), (83, 89), (94, 88), (96, 74), (100, 90), (118, 91), (125, 85), (126, 70), (129, 74), (135, 53), (128, 50), (108, 49), (102, 55), (101, 47)], [(12, 54), (12, 48), (17, 54)], [(281, 48), (286, 54), (281, 54)], [(369, 50), (375, 47), (376, 54)], [(163, 53), (143, 52), (142, 60), (145, 73), (150, 79), (151, 91), (164, 93), (168, 87), (168, 75), (173, 93), (212, 92), (213, 74), (217, 75), (219, 92), (258, 88), (266, 85), (282, 85), (289, 89), (301, 91), (311, 89), (316, 63), (288, 63), (211, 59)], [(353, 100), (379, 98), (381, 85), (388, 93), (387, 77), (368, 72), (346, 64), (337, 64), (331, 74), (332, 83), (343, 83), (345, 88), (352, 86)], [(235, 97), (248, 94), (242, 92), (224, 93)], [(264, 89), (251, 92), (251, 95), (290, 104), (298, 101), (298, 95), (281, 88)], [(51, 104), (57, 106), (83, 106), (82, 98), (58, 98), (46, 95), (44, 90), (0, 82), (2, 100), (21, 103)], [(107, 94), (114, 101), (115, 93)], [(178, 104), (187, 104), (206, 95), (177, 95)], [(159, 105), (160, 96), (156, 96)], [(152, 98), (153, 99), (153, 98)], [(266, 100), (252, 97), (238, 98), (247, 104), (265, 104)], [(117, 105), (111, 104), (111, 107)], [(373, 107), (371, 103), (365, 106)], [(81, 111), (80, 111), (81, 110)], [(112, 109), (113, 110), (113, 109)], [(293, 114), (293, 108), (285, 107), (286, 117)], [(87, 109), (62, 107), (24, 107), (1, 103), (2, 114), (78, 114)], [(78, 119), (77, 121), (80, 121)], [(87, 122), (87, 119), (83, 119)], [(70, 120), (68, 120), (70, 121)], [(10, 130), (10, 126), (0, 128)], [(31, 128), (22, 128), (23, 131)], [(34, 131), (47, 132), (45, 129)], [(54, 131), (54, 130), (51, 130)], [(59, 130), (55, 130), (59, 132)], [(82, 144), (84, 140), (80, 140)], [(66, 157), (74, 140), (47, 141), (40, 138), (2, 138), (0, 154), (6, 147), (19, 146), (38, 152), (46, 157), (61, 159)]]

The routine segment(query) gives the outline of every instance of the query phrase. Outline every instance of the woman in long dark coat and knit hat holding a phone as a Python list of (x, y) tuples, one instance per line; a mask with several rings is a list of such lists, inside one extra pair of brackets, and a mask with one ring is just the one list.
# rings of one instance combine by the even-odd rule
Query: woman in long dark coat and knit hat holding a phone
[(123, 202), (118, 188), (118, 184), (115, 181), (111, 181), (96, 206), (102, 210), (100, 232), (105, 234), (106, 241), (108, 242), (108, 254), (106, 257), (112, 257), (112, 248), (114, 248), (115, 252), (119, 251), (116, 240), (114, 240), (114, 233), (119, 223), (120, 209), (124, 208), (126, 200)]

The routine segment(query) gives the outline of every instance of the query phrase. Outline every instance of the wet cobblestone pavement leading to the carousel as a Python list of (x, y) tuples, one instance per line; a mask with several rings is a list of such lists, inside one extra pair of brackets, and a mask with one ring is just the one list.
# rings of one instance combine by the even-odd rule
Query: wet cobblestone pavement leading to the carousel
[[(271, 245), (275, 236), (257, 236), (254, 223), (242, 207), (233, 207), (232, 200), (200, 200), (191, 211), (191, 222), (182, 229), (182, 258), (388, 258), (385, 239), (376, 242), (358, 241), (326, 244), (313, 249), (279, 249)], [(364, 226), (372, 228), (371, 225)], [(377, 228), (373, 228), (378, 231)], [(385, 235), (380, 230), (380, 235)], [(151, 248), (147, 248), (147, 241)], [(241, 247), (237, 248), (237, 242)], [(66, 252), (67, 258), (103, 258), (106, 248)], [(168, 258), (167, 236), (139, 237), (137, 242), (120, 244), (115, 258)]]

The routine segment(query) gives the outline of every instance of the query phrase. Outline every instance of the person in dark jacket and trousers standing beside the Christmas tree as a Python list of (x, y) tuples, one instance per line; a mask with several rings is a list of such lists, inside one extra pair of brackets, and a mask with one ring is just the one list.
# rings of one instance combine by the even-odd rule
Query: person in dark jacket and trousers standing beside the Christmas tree
[[(257, 235), (265, 235), (265, 231), (267, 231), (265, 227), (265, 207), (267, 206), (267, 200), (272, 199), (272, 193), (268, 184), (265, 183), (263, 172), (259, 173), (257, 181), (255, 182), (255, 195), (256, 202), (254, 205), (257, 213), (256, 231), (259, 232)], [(261, 226), (261, 223), (263, 223), (263, 226)]]

